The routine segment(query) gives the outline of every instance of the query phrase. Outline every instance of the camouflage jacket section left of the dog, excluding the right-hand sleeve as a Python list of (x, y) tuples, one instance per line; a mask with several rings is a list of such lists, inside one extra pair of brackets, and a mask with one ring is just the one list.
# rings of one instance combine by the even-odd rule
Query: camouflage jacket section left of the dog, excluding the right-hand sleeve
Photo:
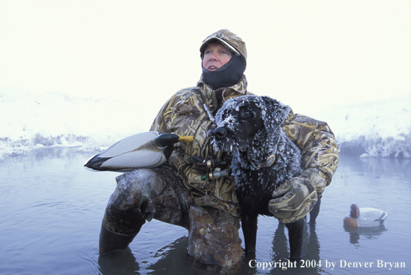
[(208, 194), (218, 202), (217, 208), (235, 217), (238, 217), (238, 200), (234, 192), (234, 177), (204, 181), (201, 176), (206, 174), (207, 170), (196, 167), (192, 158), (198, 156), (204, 160), (212, 156), (218, 160), (228, 159), (227, 156), (221, 156), (221, 153), (214, 151), (209, 144), (213, 123), (203, 104), (207, 104), (215, 115), (227, 99), (244, 95), (246, 90), (245, 76), (238, 84), (215, 91), (200, 81), (197, 87), (183, 89), (174, 94), (161, 108), (150, 128), (150, 131), (194, 136), (194, 142), (178, 144), (168, 160), (170, 169), (182, 178), (193, 197)]

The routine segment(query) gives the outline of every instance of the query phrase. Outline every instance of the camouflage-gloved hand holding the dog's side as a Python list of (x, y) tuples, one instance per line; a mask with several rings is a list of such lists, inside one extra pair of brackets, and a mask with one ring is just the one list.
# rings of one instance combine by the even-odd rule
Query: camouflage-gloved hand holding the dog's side
[(324, 178), (320, 174), (305, 170), (272, 192), (273, 199), (268, 202), (268, 210), (280, 222), (295, 222), (313, 209), (317, 196), (321, 196), (324, 188)]

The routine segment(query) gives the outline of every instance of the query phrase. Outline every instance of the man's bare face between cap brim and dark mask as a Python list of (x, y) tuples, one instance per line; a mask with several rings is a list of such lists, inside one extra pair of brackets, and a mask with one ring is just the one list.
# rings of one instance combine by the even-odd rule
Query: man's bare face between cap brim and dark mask
[(207, 71), (216, 71), (224, 66), (231, 59), (232, 53), (221, 43), (212, 43), (204, 50), (202, 58), (202, 67)]

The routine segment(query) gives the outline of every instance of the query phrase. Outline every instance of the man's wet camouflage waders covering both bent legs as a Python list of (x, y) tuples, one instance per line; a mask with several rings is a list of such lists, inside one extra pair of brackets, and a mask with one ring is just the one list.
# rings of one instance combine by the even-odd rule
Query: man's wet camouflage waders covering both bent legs
[(241, 262), (240, 223), (210, 206), (196, 206), (180, 178), (167, 168), (139, 169), (116, 178), (100, 233), (100, 253), (125, 249), (146, 220), (189, 231), (188, 253), (206, 265), (230, 269)]

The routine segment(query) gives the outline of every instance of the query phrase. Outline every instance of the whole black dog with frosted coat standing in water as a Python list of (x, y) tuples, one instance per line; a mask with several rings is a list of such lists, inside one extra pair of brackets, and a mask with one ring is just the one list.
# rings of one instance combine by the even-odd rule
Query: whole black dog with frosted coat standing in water
[[(246, 253), (255, 251), (258, 215), (272, 216), (272, 192), (302, 172), (301, 153), (281, 128), (288, 113), (288, 106), (270, 97), (243, 96), (229, 99), (216, 115), (215, 145), (232, 153)], [(286, 226), (290, 259), (301, 258), (304, 219)]]

